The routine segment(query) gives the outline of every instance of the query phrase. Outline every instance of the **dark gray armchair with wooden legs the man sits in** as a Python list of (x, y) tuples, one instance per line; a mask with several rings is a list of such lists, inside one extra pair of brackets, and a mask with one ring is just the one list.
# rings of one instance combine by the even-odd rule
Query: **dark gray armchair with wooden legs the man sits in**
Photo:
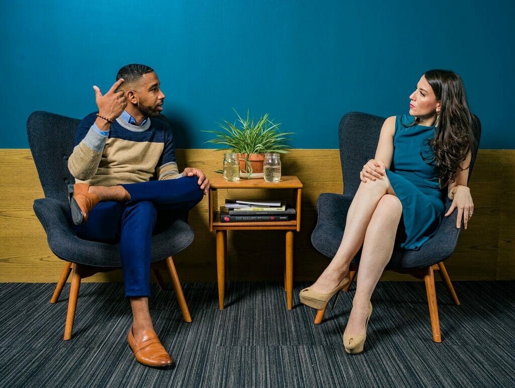
[[(45, 198), (34, 201), (34, 212), (43, 225), (48, 246), (60, 259), (66, 261), (50, 303), (55, 303), (73, 269), (64, 340), (72, 338), (75, 307), (80, 280), (98, 272), (111, 271), (122, 266), (118, 244), (105, 244), (82, 240), (72, 229), (68, 212), (67, 186), (74, 183), (68, 171), (68, 157), (75, 146), (75, 132), (80, 120), (54, 113), (33, 112), (27, 121), (30, 151), (38, 170)], [(165, 230), (152, 237), (152, 272), (161, 289), (164, 288), (159, 268), (154, 265), (166, 261), (182, 316), (191, 322), (179, 277), (172, 256), (193, 241), (193, 230), (187, 223), (187, 212)]]

